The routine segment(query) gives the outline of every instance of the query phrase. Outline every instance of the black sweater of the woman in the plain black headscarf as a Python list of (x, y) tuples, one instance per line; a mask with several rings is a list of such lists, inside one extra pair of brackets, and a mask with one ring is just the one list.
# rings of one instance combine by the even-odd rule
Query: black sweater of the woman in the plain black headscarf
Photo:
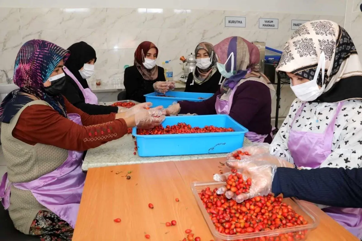
[[(66, 76), (66, 84), (62, 90), (62, 94), (72, 105), (89, 115), (105, 115), (118, 112), (117, 106), (92, 105), (85, 103), (83, 93), (79, 89), (78, 85), (71, 77), (68, 75)], [(80, 83), (84, 89), (89, 88), (86, 80)]]

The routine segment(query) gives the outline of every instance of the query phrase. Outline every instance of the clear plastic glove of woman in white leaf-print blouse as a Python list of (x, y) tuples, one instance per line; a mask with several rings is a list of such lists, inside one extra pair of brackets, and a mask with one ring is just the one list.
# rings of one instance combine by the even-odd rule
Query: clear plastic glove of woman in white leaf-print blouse
[(231, 169), (240, 169), (242, 166), (244, 166), (245, 162), (266, 162), (277, 167), (294, 168), (294, 164), (288, 162), (285, 158), (273, 156), (270, 153), (245, 156), (241, 160), (236, 160), (234, 157), (230, 159), (228, 158), (228, 160), (225, 162), (225, 165)]

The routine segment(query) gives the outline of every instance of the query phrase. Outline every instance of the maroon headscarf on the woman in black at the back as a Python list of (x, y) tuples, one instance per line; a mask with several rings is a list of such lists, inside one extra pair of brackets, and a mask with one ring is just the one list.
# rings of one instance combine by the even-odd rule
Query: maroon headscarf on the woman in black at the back
[(144, 58), (145, 58), (148, 50), (150, 50), (150, 48), (155, 48), (156, 54), (158, 55), (158, 48), (156, 47), (156, 45), (154, 45), (153, 43), (151, 43), (149, 41), (144, 41), (144, 42), (140, 43), (135, 51), (134, 65), (137, 66), (138, 71), (141, 73), (142, 77), (145, 80), (155, 80), (158, 75), (157, 65), (155, 67), (153, 67), (152, 69), (146, 69), (143, 66)]

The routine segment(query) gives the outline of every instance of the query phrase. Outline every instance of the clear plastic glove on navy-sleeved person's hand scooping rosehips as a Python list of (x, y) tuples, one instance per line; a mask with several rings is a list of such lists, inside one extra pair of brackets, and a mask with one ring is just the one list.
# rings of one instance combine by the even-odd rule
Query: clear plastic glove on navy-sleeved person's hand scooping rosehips
[[(216, 193), (223, 194), (227, 198), (236, 200), (237, 203), (241, 203), (246, 199), (253, 198), (254, 196), (264, 196), (271, 193), (271, 183), (273, 182), (274, 174), (277, 170), (277, 166), (265, 161), (259, 162), (241, 162), (239, 165), (241, 168), (237, 170), (243, 174), (243, 178), (251, 178), (252, 184), (249, 189), (249, 193), (242, 193), (236, 195), (230, 190), (227, 190), (226, 186), (220, 187)], [(224, 174), (215, 174), (214, 180), (218, 182), (225, 182), (231, 172)]]

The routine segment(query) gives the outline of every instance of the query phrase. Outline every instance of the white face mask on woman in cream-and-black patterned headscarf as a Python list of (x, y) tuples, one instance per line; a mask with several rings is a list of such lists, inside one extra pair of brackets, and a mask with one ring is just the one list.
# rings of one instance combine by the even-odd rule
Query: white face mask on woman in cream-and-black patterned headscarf
[[(319, 75), (319, 71), (322, 70), (322, 87), (319, 88), (317, 85), (317, 78)], [(325, 55), (322, 52), (319, 63), (317, 65), (316, 72), (314, 74), (314, 78), (311, 81), (308, 81), (299, 85), (292, 85), (292, 81), (290, 81), (290, 88), (293, 90), (295, 96), (299, 98), (301, 101), (313, 101), (316, 100), (324, 91), (324, 71), (325, 71)]]

